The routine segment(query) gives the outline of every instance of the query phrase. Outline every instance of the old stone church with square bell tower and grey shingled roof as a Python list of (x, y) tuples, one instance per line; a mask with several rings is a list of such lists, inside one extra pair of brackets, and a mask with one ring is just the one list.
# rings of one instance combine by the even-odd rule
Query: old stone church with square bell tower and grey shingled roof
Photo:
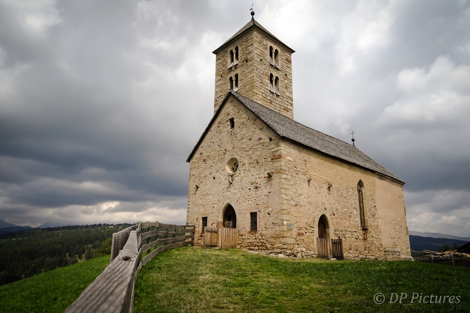
[[(216, 55), (214, 115), (188, 156), (187, 221), (235, 246), (325, 259), (412, 259), (403, 182), (294, 120), (292, 53), (254, 19)], [(281, 256), (282, 256), (281, 255)]]

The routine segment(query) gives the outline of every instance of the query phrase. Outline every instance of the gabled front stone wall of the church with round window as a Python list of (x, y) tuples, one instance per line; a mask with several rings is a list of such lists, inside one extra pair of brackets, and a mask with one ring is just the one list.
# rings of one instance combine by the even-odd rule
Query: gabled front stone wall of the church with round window
[[(234, 117), (235, 128), (228, 119)], [(269, 140), (272, 138), (272, 141)], [(272, 228), (269, 216), (280, 203), (281, 188), (277, 159), (279, 138), (238, 99), (230, 96), (201, 145), (190, 160), (188, 188), (189, 222), (197, 225), (195, 244), (202, 244), (201, 217), (208, 216), (208, 227), (222, 221), (224, 206), (230, 203), (236, 213), (240, 236), (248, 235), (249, 210), (259, 209), (257, 236)], [(226, 163), (237, 158), (239, 168), (229, 180)], [(267, 172), (274, 173), (272, 178)], [(196, 185), (198, 188), (196, 190)]]

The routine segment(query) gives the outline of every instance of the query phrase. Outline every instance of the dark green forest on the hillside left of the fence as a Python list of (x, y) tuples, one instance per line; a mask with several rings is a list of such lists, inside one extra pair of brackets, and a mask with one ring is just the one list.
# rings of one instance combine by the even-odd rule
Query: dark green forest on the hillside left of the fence
[(112, 234), (131, 225), (70, 225), (1, 235), (0, 285), (110, 254)]

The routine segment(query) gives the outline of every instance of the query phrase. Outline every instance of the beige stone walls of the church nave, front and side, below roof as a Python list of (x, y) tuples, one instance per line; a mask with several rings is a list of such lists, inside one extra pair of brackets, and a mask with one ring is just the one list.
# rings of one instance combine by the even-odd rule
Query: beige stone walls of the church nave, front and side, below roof
[[(228, 122), (231, 117), (235, 122), (233, 130)], [(226, 163), (233, 157), (239, 160), (240, 167), (230, 183)], [(268, 178), (267, 172), (273, 177)], [(359, 180), (365, 186), (369, 227), (366, 232), (359, 221)], [(377, 199), (382, 193), (396, 200), (392, 208), (384, 206), (389, 198)], [(387, 183), (372, 171), (278, 138), (233, 96), (190, 161), (188, 221), (199, 226), (197, 236), (201, 217), (208, 216), (208, 226), (216, 227), (227, 203), (237, 215), (242, 249), (293, 257), (316, 256), (318, 219), (325, 215), (328, 237), (344, 239), (346, 259), (383, 260), (388, 255), (385, 248), (398, 248), (402, 255), (409, 254), (399, 183)], [(249, 212), (253, 209), (259, 210), (259, 228), (250, 234)], [(400, 210), (402, 215), (397, 213)], [(393, 216), (386, 214), (389, 211), (394, 212)], [(290, 222), (291, 230), (287, 229)], [(389, 226), (392, 235), (384, 234)], [(389, 240), (391, 237), (393, 240)], [(202, 244), (202, 237), (196, 237), (198, 244)]]

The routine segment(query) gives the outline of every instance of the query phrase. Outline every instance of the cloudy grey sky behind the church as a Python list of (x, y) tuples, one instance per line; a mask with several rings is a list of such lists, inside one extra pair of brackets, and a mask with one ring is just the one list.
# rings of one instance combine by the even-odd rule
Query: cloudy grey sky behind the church
[(186, 220), (211, 53), (251, 18), (297, 52), (294, 117), (407, 182), (408, 228), (470, 237), (470, 1), (0, 0), (0, 219)]

